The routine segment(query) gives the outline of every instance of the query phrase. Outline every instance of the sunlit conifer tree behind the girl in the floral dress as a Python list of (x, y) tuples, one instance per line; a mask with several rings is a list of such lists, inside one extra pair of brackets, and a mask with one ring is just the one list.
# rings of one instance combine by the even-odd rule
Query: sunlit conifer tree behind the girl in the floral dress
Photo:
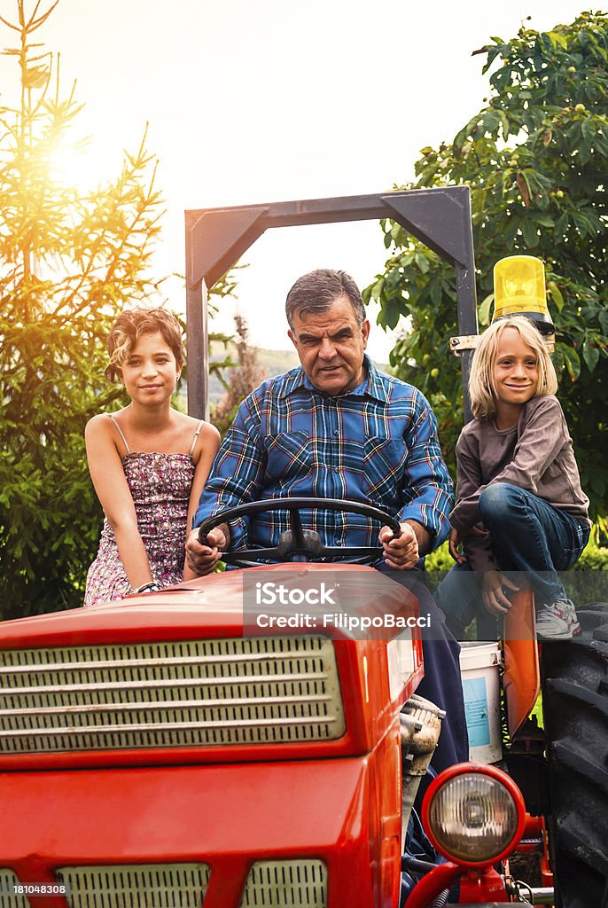
[[(88, 195), (54, 178), (80, 110), (35, 42), (56, 3), (2, 18), (15, 38), (15, 104), (0, 107), (0, 614), (80, 604), (101, 511), (83, 426), (121, 393), (103, 380), (104, 336), (143, 301), (161, 200), (145, 136)], [(16, 81), (16, 80), (15, 80)]]

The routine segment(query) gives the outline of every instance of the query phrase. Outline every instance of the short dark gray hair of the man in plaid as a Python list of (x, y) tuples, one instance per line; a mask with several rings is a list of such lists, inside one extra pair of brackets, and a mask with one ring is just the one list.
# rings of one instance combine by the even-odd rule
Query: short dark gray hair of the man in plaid
[(359, 325), (362, 325), (367, 317), (363, 297), (357, 284), (346, 271), (318, 268), (316, 271), (303, 274), (287, 294), (285, 312), (289, 328), (293, 329), (296, 314), (300, 319), (305, 315), (320, 315), (327, 312), (333, 301), (340, 296), (347, 297)]

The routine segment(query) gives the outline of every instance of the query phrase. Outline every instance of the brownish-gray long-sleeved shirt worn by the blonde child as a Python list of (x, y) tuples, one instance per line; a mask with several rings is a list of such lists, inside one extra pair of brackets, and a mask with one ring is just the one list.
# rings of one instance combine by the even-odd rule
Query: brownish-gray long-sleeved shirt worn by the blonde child
[[(564, 411), (553, 394), (528, 400), (517, 424), (496, 429), (495, 420), (473, 419), (456, 444), (457, 500), (450, 523), (463, 536), (477, 523), (479, 495), (508, 482), (544, 498), (574, 518), (588, 519)], [(489, 534), (466, 538), (466, 556), (478, 571), (495, 568)]]

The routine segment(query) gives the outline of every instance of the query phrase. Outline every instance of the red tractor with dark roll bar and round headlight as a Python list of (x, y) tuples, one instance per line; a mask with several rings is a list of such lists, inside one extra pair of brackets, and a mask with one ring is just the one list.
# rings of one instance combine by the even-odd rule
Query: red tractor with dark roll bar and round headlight
[[(288, 208), (189, 212), (194, 415), (204, 282), (267, 226), (391, 212), (455, 264), (460, 328), (476, 331), (466, 188)], [(229, 252), (203, 243), (205, 217)], [(466, 764), (427, 785), (442, 716), (415, 693), (416, 599), (373, 568), (315, 564), (319, 548), (301, 548), (296, 560), (0, 626), (0, 908), (552, 904), (552, 868), (558, 905), (605, 908), (606, 613), (583, 611), (582, 639), (546, 646), (542, 743), (526, 730), (539, 662), (531, 595), (519, 594), (505, 630), (509, 774)], [(247, 597), (269, 577), (314, 593), (309, 622), (292, 607), (252, 619)], [(319, 590), (330, 585), (348, 601), (348, 627), (325, 623)], [(364, 618), (371, 629), (355, 633)], [(538, 856), (532, 888), (510, 877), (515, 849)]]

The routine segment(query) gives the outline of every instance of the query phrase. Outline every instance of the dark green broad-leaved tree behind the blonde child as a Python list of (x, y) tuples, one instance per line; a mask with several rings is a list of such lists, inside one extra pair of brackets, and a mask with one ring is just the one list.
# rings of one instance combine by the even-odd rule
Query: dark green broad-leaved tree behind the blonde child
[[(399, 188), (471, 187), (479, 321), (493, 301), (492, 271), (506, 255), (543, 259), (556, 327), (554, 362), (583, 487), (595, 515), (608, 514), (605, 400), (608, 398), (606, 176), (608, 174), (608, 17), (585, 13), (510, 42), (492, 38), (486, 106), (451, 144), (424, 148), (417, 181)], [(397, 342), (397, 374), (424, 390), (440, 423), (447, 457), (462, 427), (460, 367), (448, 353), (456, 326), (452, 270), (395, 222), (382, 222), (391, 257), (364, 296), (378, 321), (411, 331)]]

